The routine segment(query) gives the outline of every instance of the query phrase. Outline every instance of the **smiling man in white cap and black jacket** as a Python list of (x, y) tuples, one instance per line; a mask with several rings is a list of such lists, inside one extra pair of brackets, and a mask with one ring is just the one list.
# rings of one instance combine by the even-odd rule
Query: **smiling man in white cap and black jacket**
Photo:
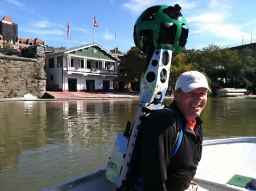
[(171, 148), (177, 138), (175, 119), (170, 111), (151, 113), (142, 128), (142, 190), (204, 190), (191, 184), (201, 159), (203, 131), (200, 114), (210, 91), (207, 78), (197, 71), (181, 74), (175, 86), (171, 107), (183, 124), (183, 139), (171, 159)]

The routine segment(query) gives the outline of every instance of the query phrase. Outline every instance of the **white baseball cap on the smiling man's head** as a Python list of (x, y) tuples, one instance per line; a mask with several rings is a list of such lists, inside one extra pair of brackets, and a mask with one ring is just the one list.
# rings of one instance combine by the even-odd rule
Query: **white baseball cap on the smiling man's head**
[[(181, 88), (183, 92), (190, 92), (196, 88), (206, 88), (210, 91), (207, 78), (197, 71), (184, 72), (176, 81), (175, 90)], [(212, 92), (212, 91), (210, 91)]]

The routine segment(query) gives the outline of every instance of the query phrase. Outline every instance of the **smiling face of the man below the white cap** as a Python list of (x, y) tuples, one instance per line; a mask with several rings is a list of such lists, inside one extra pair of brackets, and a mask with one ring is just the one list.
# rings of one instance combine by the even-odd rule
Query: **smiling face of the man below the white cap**
[(207, 103), (207, 89), (197, 88), (190, 92), (174, 92), (174, 99), (188, 121), (198, 117)]

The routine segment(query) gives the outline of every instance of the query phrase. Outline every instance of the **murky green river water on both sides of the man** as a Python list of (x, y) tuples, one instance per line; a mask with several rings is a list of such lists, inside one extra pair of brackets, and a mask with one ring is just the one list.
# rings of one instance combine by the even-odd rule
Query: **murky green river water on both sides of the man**
[[(137, 109), (131, 99), (0, 102), (0, 190), (42, 190), (106, 167)], [(201, 118), (205, 140), (256, 136), (256, 99), (209, 98)]]

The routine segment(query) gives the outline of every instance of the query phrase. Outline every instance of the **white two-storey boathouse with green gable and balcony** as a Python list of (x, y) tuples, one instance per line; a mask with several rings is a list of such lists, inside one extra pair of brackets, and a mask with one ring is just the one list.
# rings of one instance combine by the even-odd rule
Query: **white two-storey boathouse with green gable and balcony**
[(46, 89), (69, 92), (112, 90), (119, 62), (118, 57), (96, 43), (46, 51)]

